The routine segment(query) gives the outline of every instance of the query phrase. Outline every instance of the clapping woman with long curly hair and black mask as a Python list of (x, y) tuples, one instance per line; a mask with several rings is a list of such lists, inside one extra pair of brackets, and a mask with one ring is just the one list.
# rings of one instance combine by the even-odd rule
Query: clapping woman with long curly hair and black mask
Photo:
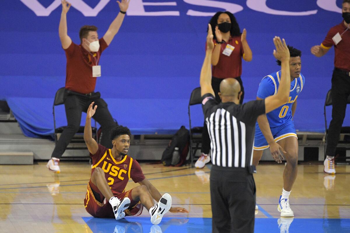
[[(235, 16), (231, 12), (217, 12), (210, 20), (214, 33), (214, 49), (211, 56), (212, 79), (211, 86), (215, 93), (215, 100), (221, 102), (218, 95), (220, 83), (226, 78), (235, 78), (241, 87), (240, 104), (243, 103), (244, 88), (241, 80), (242, 58), (251, 61), (252, 50), (246, 40), (247, 31), (240, 32)], [(202, 133), (202, 154), (195, 163), (196, 168), (203, 168), (210, 161), (210, 138), (207, 125), (204, 122)]]

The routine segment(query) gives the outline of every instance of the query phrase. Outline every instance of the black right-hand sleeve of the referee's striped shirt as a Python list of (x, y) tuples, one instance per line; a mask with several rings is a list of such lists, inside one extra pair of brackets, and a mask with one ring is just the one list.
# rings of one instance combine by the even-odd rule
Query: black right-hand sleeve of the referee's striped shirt
[(265, 114), (265, 100), (253, 100), (242, 105), (243, 122), (255, 124), (258, 116)]

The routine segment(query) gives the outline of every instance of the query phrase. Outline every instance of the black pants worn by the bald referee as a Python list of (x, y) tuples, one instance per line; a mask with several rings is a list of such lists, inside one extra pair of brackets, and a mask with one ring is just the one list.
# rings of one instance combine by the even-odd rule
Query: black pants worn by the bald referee
[(213, 233), (254, 232), (255, 183), (248, 169), (213, 165), (210, 198)]

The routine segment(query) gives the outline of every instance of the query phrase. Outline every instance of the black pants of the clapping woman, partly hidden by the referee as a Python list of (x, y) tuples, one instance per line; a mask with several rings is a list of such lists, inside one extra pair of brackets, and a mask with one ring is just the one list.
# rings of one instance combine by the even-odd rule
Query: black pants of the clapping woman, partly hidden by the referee
[[(221, 99), (219, 97), (219, 92), (220, 92), (220, 83), (223, 79), (218, 79), (215, 77), (211, 78), (211, 86), (214, 90), (215, 93), (215, 100), (216, 102), (220, 103)], [(239, 82), (240, 86), (241, 86), (241, 98), (239, 103), (242, 104), (243, 103), (243, 98), (244, 98), (244, 88), (243, 88), (243, 83), (242, 80), (239, 77), (236, 78), (236, 80)], [(207, 128), (207, 123), (204, 120), (204, 126), (203, 126), (203, 131), (202, 131), (202, 148), (201, 148), (201, 152), (204, 154), (209, 154), (210, 151), (210, 138), (209, 138), (209, 133), (208, 133), (208, 128)]]

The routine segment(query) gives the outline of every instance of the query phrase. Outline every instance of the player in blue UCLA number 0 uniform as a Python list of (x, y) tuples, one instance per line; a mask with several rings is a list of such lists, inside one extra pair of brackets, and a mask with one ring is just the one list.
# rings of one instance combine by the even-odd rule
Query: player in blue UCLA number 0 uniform
[[(298, 162), (298, 140), (294, 128), (293, 116), (296, 109), (296, 100), (303, 89), (305, 78), (300, 73), (301, 51), (288, 46), (290, 52), (290, 95), (286, 104), (258, 117), (255, 125), (255, 141), (253, 152), (253, 165), (257, 166), (263, 150), (270, 147), (274, 160), (281, 163), (284, 159), (280, 150), (286, 157), (287, 165), (283, 172), (283, 189), (279, 199), (278, 211), (281, 217), (294, 217), (289, 206), (289, 194), (296, 179)], [(278, 65), (281, 61), (277, 60)], [(257, 100), (275, 95), (280, 83), (281, 71), (265, 76), (257, 93)]]

